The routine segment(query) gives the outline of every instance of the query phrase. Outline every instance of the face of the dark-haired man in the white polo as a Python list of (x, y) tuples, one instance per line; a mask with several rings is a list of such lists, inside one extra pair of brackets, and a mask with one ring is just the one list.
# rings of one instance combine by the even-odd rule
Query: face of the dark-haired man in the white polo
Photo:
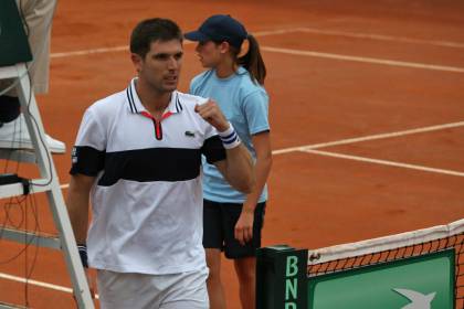
[[(138, 55), (136, 55), (137, 57)], [(151, 42), (145, 58), (134, 58), (138, 77), (157, 93), (173, 92), (179, 84), (182, 66), (182, 43), (179, 40)]]

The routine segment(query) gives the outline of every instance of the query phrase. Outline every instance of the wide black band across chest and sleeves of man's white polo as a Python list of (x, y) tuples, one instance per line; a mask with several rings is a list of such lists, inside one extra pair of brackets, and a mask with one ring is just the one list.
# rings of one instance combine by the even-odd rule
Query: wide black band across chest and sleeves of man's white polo
[(105, 152), (77, 146), (70, 173), (95, 177), (103, 170), (98, 181), (102, 187), (110, 187), (119, 180), (186, 181), (200, 175), (201, 154), (210, 164), (225, 159), (219, 136), (207, 139), (200, 149), (149, 148)]

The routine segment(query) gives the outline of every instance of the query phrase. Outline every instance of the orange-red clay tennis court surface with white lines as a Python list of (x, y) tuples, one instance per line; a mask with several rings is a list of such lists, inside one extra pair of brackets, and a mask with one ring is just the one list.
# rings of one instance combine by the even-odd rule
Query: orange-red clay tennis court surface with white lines
[[(135, 74), (135, 24), (165, 17), (193, 30), (213, 13), (243, 21), (268, 68), (275, 156), (264, 245), (318, 248), (464, 217), (464, 2), (451, 0), (60, 1), (51, 89), (38, 102), (45, 130), (67, 146), (54, 156), (64, 187), (84, 110)], [(184, 44), (184, 92), (202, 70), (193, 49)], [(44, 196), (35, 199), (40, 230), (53, 233)], [(23, 210), (10, 209), (13, 223)], [(27, 259), (13, 258), (23, 245), (0, 248), (0, 301), (75, 307), (60, 253), (39, 249), (34, 262), (34, 248)], [(27, 267), (39, 284), (25, 288)], [(240, 308), (233, 266), (223, 269), (228, 306)]]

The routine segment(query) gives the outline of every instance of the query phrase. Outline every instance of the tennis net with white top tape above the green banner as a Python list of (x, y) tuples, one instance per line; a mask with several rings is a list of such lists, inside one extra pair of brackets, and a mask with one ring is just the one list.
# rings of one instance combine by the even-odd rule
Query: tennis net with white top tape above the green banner
[(356, 269), (445, 249), (455, 252), (455, 308), (464, 309), (464, 220), (380, 238), (308, 251), (307, 276)]

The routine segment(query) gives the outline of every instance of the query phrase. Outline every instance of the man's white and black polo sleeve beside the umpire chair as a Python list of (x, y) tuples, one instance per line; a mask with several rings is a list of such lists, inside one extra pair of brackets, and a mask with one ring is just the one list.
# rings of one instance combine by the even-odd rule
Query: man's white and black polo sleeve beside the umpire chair
[(72, 156), (71, 174), (95, 177), (105, 164), (106, 135), (96, 115), (87, 109), (77, 132)]

